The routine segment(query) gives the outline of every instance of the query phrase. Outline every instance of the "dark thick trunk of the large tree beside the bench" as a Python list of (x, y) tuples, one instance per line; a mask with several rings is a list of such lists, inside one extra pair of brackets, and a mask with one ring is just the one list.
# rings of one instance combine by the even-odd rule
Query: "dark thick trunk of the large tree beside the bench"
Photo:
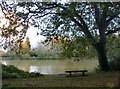
[(95, 49), (98, 54), (99, 66), (102, 71), (109, 71), (110, 67), (108, 64), (107, 54), (106, 54), (106, 44), (97, 43)]

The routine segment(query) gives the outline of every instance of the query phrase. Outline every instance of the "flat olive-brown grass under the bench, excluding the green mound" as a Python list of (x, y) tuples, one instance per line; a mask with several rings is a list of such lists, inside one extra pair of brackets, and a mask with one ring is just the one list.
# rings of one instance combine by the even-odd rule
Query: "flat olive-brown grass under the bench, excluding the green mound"
[(117, 87), (118, 72), (88, 73), (87, 76), (44, 75), (3, 79), (3, 87)]

